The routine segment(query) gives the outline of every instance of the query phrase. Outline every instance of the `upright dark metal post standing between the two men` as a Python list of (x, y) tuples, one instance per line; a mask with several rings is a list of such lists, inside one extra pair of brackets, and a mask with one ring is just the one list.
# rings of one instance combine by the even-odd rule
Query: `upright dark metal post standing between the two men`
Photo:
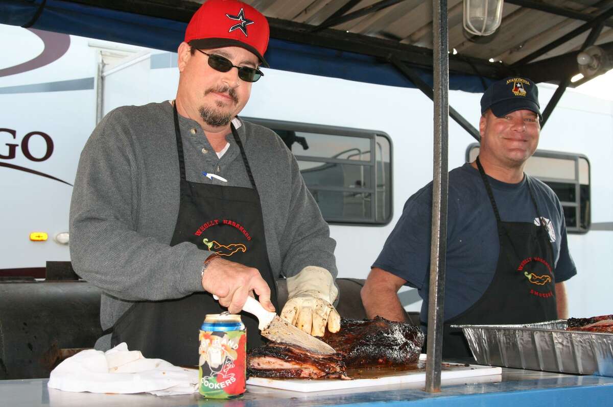
[(447, 0), (432, 0), (434, 66), (434, 168), (430, 291), (428, 293), (428, 346), (425, 391), (441, 390), (443, 310), (447, 252), (447, 148), (449, 142), (449, 38)]

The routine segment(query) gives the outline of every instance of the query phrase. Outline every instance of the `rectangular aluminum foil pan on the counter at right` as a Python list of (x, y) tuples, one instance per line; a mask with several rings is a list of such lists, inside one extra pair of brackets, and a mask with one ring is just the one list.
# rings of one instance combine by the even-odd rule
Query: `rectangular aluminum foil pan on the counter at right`
[(564, 330), (566, 319), (462, 328), (478, 364), (613, 376), (613, 334)]

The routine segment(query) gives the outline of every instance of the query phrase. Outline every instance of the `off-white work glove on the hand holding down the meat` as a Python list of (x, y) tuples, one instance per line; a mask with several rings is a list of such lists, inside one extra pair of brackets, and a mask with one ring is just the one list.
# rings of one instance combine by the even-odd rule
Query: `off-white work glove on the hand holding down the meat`
[(338, 332), (341, 317), (332, 305), (337, 296), (332, 274), (322, 267), (307, 266), (287, 278), (287, 302), (281, 318), (313, 336), (323, 336), (326, 325), (330, 332)]

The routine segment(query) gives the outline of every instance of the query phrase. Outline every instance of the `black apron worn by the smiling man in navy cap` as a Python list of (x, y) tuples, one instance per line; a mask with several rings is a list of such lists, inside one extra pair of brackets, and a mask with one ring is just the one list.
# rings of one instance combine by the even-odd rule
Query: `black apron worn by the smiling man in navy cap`
[(541, 220), (539, 226), (530, 222), (501, 221), (479, 157), (477, 166), (496, 217), (500, 254), (492, 282), (481, 298), (443, 324), (443, 357), (447, 358), (473, 357), (462, 330), (452, 328), (452, 324), (529, 324), (558, 318), (554, 250), (547, 225), (539, 216), (530, 177), (526, 180), (527, 187)]

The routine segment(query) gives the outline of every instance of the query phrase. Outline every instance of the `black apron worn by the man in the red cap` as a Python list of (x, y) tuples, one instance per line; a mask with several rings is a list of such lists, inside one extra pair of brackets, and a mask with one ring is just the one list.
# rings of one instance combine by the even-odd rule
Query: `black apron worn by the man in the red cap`
[[(268, 283), (270, 299), (278, 308), (276, 285), (268, 261), (262, 206), (251, 168), (234, 125), (251, 188), (188, 182), (177, 107), (174, 106), (175, 136), (181, 171), (181, 196), (177, 224), (170, 245), (192, 242), (226, 260), (255, 267)], [(132, 305), (113, 326), (112, 345), (121, 342), (143, 356), (167, 360), (174, 365), (198, 364), (198, 331), (206, 314), (226, 311), (209, 293), (194, 293), (166, 301), (142, 301)], [(247, 347), (262, 344), (257, 318), (241, 313), (247, 330)]]

